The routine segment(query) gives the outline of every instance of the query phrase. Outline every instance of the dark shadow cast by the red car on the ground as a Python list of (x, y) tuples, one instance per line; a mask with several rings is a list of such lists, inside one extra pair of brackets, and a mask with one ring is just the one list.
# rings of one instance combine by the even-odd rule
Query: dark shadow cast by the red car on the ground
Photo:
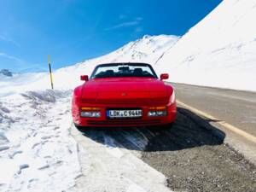
[(177, 120), (172, 127), (117, 127), (79, 129), (84, 137), (111, 148), (138, 151), (174, 151), (204, 145), (220, 145), (225, 134), (185, 108), (177, 108)]

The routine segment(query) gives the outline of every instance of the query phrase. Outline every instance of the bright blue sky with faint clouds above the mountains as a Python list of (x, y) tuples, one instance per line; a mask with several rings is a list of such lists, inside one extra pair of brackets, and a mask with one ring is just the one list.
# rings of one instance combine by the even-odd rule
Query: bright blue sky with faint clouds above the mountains
[(143, 35), (182, 36), (221, 0), (0, 0), (0, 69), (39, 72), (108, 54)]

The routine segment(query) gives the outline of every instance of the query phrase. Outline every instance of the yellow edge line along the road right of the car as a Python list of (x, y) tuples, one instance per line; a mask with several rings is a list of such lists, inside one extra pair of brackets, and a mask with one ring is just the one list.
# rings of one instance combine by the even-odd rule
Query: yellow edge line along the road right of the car
[(247, 138), (247, 140), (253, 142), (253, 143), (256, 143), (256, 137), (254, 137), (253, 135), (247, 133), (246, 131), (241, 131), (241, 129), (237, 128), (236, 126), (233, 126), (233, 125), (230, 125), (229, 123), (225, 122), (224, 120), (220, 120), (218, 118), (215, 118), (213, 117), (212, 115), (210, 114), (207, 114), (205, 112), (202, 112), (196, 108), (193, 108), (193, 107), (190, 107), (189, 105), (183, 103), (183, 102), (180, 102), (180, 101), (176, 101), (177, 104), (183, 106), (183, 108), (187, 108), (189, 109), (190, 111), (194, 112), (194, 113), (197, 113), (207, 119), (213, 119), (213, 120), (218, 120), (216, 123), (219, 124), (219, 125), (222, 125), (224, 126), (224, 128), (230, 130), (230, 131), (233, 131), (235, 132), (236, 134), (240, 135), (241, 137), (245, 137)]

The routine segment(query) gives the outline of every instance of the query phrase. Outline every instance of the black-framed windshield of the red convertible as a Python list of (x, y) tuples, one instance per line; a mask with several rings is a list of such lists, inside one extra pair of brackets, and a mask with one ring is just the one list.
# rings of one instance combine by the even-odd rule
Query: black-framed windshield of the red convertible
[(154, 69), (150, 65), (142, 63), (102, 64), (95, 68), (90, 78), (117, 77), (157, 78)]

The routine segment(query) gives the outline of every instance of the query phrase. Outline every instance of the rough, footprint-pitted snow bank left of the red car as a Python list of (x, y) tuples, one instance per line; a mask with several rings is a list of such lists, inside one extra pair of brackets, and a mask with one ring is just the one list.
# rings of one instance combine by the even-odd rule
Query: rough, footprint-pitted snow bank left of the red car
[(70, 136), (71, 92), (25, 92), (0, 99), (0, 191), (56, 191), (80, 174)]

